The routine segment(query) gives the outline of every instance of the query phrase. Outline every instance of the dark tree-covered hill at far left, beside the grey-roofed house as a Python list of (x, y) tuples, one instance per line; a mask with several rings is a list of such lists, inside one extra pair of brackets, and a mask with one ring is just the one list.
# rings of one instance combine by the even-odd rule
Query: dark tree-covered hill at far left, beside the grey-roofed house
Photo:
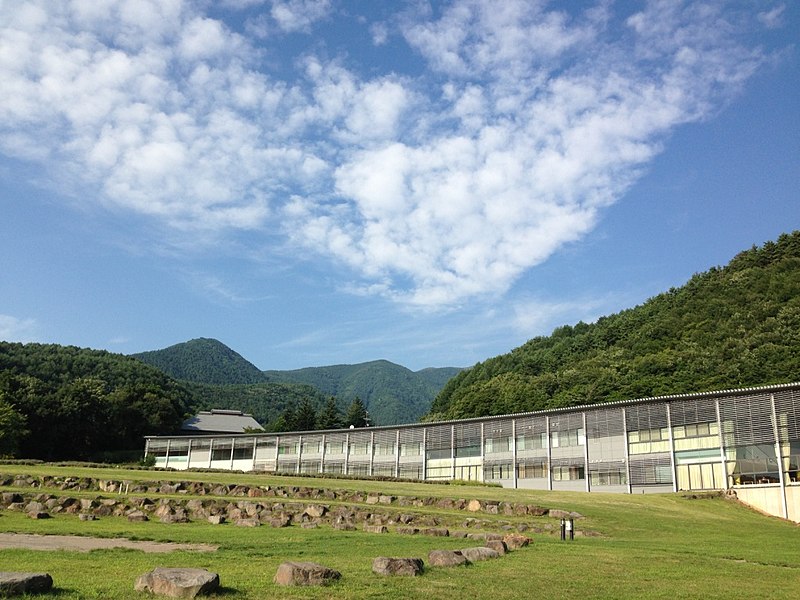
[(105, 351), (0, 342), (0, 455), (102, 459), (174, 433), (191, 397), (158, 369)]

